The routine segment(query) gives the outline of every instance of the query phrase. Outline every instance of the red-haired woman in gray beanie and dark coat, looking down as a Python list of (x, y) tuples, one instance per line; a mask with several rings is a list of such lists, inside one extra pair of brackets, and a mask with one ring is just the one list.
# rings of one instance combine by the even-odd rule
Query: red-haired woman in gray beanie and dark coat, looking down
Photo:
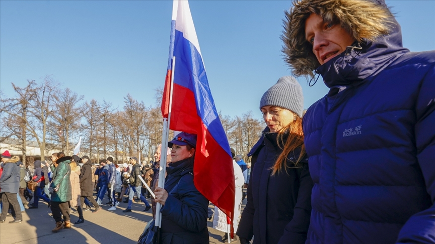
[(261, 97), (266, 129), (249, 152), (248, 202), (237, 235), (240, 243), (305, 243), (313, 181), (302, 132), (302, 87), (281, 77)]

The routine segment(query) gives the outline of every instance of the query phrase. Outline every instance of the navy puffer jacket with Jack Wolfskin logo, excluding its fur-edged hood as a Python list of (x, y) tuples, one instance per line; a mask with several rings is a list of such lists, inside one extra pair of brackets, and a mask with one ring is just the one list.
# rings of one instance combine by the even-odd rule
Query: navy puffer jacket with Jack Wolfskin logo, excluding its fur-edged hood
[(330, 91), (303, 120), (307, 243), (435, 243), (435, 52), (392, 30), (317, 69)]

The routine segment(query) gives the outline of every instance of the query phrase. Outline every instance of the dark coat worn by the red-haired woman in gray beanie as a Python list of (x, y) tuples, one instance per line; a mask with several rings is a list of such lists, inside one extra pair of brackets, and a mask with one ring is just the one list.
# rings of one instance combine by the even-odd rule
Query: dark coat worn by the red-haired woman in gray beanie
[[(283, 169), (271, 175), (271, 168), (282, 152), (277, 133), (263, 131), (263, 136), (248, 156), (256, 155), (248, 185), (248, 202), (242, 213), (237, 235), (254, 244), (305, 243), (311, 213), (313, 181), (308, 158), (303, 157), (297, 168)], [(285, 140), (284, 136), (284, 140)], [(288, 154), (287, 167), (294, 167), (301, 149)]]

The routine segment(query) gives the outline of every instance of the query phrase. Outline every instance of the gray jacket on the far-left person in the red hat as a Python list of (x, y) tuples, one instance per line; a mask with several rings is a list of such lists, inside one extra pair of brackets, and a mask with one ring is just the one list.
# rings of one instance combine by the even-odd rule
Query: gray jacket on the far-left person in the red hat
[(0, 192), (18, 193), (20, 188), (20, 158), (13, 156), (3, 165), (2, 177), (0, 177)]

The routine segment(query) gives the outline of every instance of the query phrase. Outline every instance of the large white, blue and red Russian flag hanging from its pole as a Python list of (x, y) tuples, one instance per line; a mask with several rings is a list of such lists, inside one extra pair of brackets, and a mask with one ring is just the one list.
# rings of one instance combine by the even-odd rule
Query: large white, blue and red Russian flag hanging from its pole
[[(169, 128), (198, 135), (194, 161), (196, 189), (224, 213), (234, 217), (235, 182), (230, 145), (210, 87), (187, 1), (174, 1), (168, 72), (162, 114), (168, 117), (172, 59), (175, 71)], [(231, 231), (233, 232), (233, 231)]]

